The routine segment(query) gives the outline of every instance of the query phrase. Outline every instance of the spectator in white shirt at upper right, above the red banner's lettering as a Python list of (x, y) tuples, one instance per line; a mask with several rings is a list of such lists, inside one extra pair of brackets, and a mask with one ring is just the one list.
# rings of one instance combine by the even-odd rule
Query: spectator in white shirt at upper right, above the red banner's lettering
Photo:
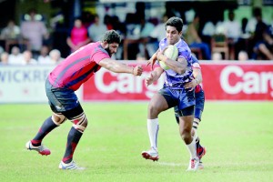
[(228, 12), (228, 20), (223, 22), (225, 28), (225, 35), (227, 36), (229, 59), (234, 60), (235, 54), (238, 51), (235, 49), (238, 47), (238, 39), (241, 35), (241, 26), (238, 21), (234, 19), (235, 15), (232, 10)]

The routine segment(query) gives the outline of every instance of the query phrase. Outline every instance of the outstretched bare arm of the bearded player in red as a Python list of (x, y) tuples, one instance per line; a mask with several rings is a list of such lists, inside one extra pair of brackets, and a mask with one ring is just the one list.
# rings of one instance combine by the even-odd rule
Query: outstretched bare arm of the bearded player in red
[(126, 66), (110, 58), (101, 60), (98, 65), (115, 73), (127, 73), (134, 76), (141, 76), (143, 72), (142, 66)]

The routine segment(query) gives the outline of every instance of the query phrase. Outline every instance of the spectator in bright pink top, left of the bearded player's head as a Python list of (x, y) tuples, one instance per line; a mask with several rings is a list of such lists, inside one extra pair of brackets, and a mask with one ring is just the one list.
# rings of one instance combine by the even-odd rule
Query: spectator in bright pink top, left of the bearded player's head
[(87, 29), (82, 24), (82, 20), (76, 18), (74, 26), (70, 32), (70, 35), (66, 39), (67, 45), (69, 45), (71, 52), (76, 51), (79, 47), (86, 45), (90, 42)]

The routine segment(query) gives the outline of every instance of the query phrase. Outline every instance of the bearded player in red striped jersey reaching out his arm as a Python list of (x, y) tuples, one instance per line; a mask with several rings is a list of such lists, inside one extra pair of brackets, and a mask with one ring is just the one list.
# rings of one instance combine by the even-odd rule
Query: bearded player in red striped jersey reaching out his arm
[(82, 46), (56, 66), (45, 81), (45, 92), (53, 114), (45, 119), (35, 137), (25, 144), (27, 149), (50, 155), (50, 150), (42, 144), (44, 137), (66, 119), (71, 120), (73, 126), (67, 136), (66, 152), (59, 168), (84, 169), (73, 160), (76, 146), (87, 126), (86, 114), (75, 91), (101, 67), (134, 76), (141, 76), (143, 72), (141, 66), (126, 66), (111, 59), (119, 44), (120, 35), (115, 30), (106, 31), (102, 41)]

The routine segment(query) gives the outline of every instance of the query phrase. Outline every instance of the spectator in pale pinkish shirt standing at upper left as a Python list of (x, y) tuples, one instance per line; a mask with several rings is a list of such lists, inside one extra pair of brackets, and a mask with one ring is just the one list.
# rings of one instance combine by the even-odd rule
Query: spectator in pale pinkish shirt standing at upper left
[(23, 21), (21, 25), (21, 33), (24, 38), (30, 41), (31, 51), (35, 56), (38, 56), (43, 45), (43, 40), (48, 38), (45, 23), (35, 19), (35, 9), (30, 9), (28, 12), (30, 20)]

